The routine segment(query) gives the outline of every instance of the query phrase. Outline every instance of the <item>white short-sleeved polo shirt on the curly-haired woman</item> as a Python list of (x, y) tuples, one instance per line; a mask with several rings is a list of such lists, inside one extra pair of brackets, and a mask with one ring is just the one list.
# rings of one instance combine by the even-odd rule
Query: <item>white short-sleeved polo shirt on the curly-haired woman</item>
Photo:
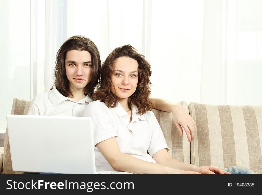
[[(84, 116), (92, 117), (94, 145), (111, 137), (116, 137), (122, 153), (148, 162), (155, 162), (152, 156), (167, 147), (163, 132), (152, 111), (137, 114), (138, 108), (132, 106), (132, 120), (121, 104), (108, 108), (104, 102), (88, 104)], [(148, 153), (147, 153), (148, 151)], [(96, 170), (116, 173), (102, 153), (95, 147)]]

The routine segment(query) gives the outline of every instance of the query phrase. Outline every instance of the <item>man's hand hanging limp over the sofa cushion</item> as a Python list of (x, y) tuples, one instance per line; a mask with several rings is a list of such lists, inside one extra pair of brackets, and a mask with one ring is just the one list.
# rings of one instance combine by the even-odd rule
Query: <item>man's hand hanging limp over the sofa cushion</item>
[[(174, 122), (177, 126), (180, 136), (183, 135), (183, 129), (185, 130), (188, 141), (192, 141), (194, 138), (194, 132), (196, 123), (193, 118), (185, 111), (180, 104), (175, 104), (172, 109)], [(183, 129), (182, 129), (182, 127)]]

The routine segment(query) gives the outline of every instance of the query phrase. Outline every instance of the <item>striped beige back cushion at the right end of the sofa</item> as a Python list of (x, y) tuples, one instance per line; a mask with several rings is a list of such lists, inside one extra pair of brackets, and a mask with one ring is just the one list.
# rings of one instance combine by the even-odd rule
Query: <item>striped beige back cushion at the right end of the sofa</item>
[(196, 122), (191, 164), (219, 168), (244, 166), (262, 173), (262, 106), (191, 102)]

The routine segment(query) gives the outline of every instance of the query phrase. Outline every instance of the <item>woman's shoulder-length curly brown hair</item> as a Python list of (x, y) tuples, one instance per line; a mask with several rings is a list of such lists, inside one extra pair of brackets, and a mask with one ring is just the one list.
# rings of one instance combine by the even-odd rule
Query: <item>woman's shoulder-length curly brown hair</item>
[(146, 61), (145, 56), (131, 45), (124, 45), (114, 49), (106, 58), (101, 68), (101, 81), (98, 84), (97, 91), (94, 92), (93, 99), (105, 102), (107, 107), (116, 107), (117, 96), (112, 92), (111, 75), (113, 73), (114, 63), (117, 58), (129, 57), (138, 62), (138, 83), (133, 93), (128, 98), (128, 106), (135, 104), (138, 107), (138, 114), (142, 115), (146, 111), (153, 109), (153, 103), (149, 99), (152, 85), (149, 77), (151, 76), (150, 64)]

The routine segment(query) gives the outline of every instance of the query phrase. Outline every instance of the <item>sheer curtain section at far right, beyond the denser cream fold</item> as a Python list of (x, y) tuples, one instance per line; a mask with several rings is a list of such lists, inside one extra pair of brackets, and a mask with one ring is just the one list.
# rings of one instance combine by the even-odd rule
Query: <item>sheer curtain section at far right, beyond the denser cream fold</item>
[(225, 103), (262, 104), (262, 1), (227, 1), (225, 10)]

